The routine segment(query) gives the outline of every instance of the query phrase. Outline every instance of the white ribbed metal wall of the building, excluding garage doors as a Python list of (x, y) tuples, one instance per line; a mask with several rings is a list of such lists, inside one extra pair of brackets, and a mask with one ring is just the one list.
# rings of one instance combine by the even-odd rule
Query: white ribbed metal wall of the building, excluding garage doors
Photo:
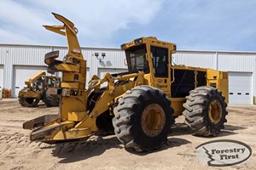
[[(60, 50), (59, 59), (62, 60), (67, 54), (67, 48), (56, 46), (33, 46), (33, 45), (8, 45), (0, 44), (0, 65), (4, 65), (3, 88), (12, 88), (14, 83), (13, 71), (15, 65), (40, 65), (44, 64), (44, 54)], [(87, 60), (89, 77), (99, 75), (102, 68), (126, 69), (125, 53), (118, 48), (82, 48), (84, 59)], [(102, 59), (96, 59), (95, 53)], [(253, 95), (256, 96), (256, 52), (218, 52), (218, 51), (189, 51), (178, 50), (172, 56), (173, 64), (190, 65), (204, 68), (212, 68), (220, 71), (243, 71), (253, 73)]]

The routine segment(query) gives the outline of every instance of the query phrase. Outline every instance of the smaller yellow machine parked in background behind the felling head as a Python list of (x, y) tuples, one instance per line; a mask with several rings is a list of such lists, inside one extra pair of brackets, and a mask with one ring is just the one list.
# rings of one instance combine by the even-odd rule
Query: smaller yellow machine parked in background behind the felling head
[(19, 92), (19, 103), (25, 107), (38, 107), (40, 100), (48, 107), (59, 105), (57, 94), (60, 77), (47, 76), (45, 71), (38, 71), (26, 80), (26, 87)]

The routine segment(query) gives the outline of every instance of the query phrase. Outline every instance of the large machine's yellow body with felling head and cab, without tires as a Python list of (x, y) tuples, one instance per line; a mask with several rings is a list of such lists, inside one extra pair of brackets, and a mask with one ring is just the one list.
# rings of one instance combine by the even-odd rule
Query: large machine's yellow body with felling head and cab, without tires
[[(227, 72), (172, 65), (172, 54), (176, 52), (176, 44), (162, 42), (155, 37), (138, 38), (121, 46), (125, 50), (126, 57), (129, 55), (131, 48), (136, 48), (136, 50), (143, 48), (145, 52), (143, 61), (147, 63), (148, 71), (143, 71), (143, 65), (143, 69), (134, 72), (129, 68), (128, 73), (106, 73), (102, 78), (95, 75), (90, 79), (89, 88), (85, 89), (86, 61), (76, 36), (78, 31), (71, 21), (59, 14), (54, 15), (57, 20), (63, 23), (63, 26), (44, 27), (49, 31), (67, 37), (68, 53), (63, 61), (59, 61), (56, 60), (59, 53), (51, 52), (45, 55), (44, 62), (49, 65), (49, 70), (62, 71), (63, 73), (60, 87), (61, 104), (59, 105), (58, 116), (41, 116), (23, 124), (24, 128), (32, 129), (32, 140), (40, 140), (51, 144), (87, 139), (98, 130), (97, 117), (106, 111), (114, 116), (113, 108), (117, 105), (118, 99), (124, 96), (125, 92), (127, 93), (132, 88), (141, 85), (148, 85), (163, 91), (166, 97), (172, 101), (172, 108), (175, 111), (172, 116), (180, 116), (184, 110), (185, 96), (172, 95), (172, 86), (178, 86), (178, 83), (180, 83), (176, 82), (175, 75), (177, 72), (180, 74), (179, 77), (182, 77), (182, 74), (186, 71), (189, 72), (189, 75), (192, 75), (194, 81), (190, 81), (189, 88), (196, 88), (201, 85), (213, 86), (221, 90), (226, 96), (226, 102), (228, 101)], [(168, 65), (166, 66), (167, 74), (165, 77), (157, 77), (155, 74), (156, 68), (153, 62), (152, 47), (166, 51), (165, 62)], [(127, 60), (128, 65), (131, 65), (131, 60)], [(203, 82), (200, 82), (197, 77), (203, 79)], [(104, 82), (108, 82), (107, 87), (102, 87)], [(186, 84), (182, 86), (185, 87)], [(98, 91), (101, 91), (101, 94), (94, 99), (95, 95), (93, 93)], [(177, 94), (183, 95), (179, 92)], [(90, 96), (92, 96), (91, 99)], [(58, 118), (56, 119), (56, 117)]]

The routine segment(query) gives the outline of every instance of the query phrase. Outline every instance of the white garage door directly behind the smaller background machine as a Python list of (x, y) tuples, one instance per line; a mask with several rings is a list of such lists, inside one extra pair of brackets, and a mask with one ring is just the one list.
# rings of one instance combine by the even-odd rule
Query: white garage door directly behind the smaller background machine
[(25, 87), (25, 81), (38, 71), (46, 71), (46, 66), (15, 65), (12, 97), (17, 98), (20, 90)]

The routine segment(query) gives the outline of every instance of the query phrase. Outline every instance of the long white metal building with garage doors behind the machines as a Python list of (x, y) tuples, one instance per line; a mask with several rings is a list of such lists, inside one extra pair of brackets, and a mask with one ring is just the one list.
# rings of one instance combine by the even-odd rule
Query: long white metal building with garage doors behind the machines
[[(0, 44), (0, 88), (11, 88), (12, 97), (24, 87), (24, 81), (35, 72), (46, 70), (44, 54), (67, 48), (56, 46)], [(106, 72), (126, 71), (125, 53), (118, 48), (82, 48), (87, 59), (87, 81), (92, 75), (102, 77)], [(106, 56), (100, 62), (95, 53)], [(178, 50), (173, 55), (176, 65), (199, 66), (229, 71), (230, 104), (253, 104), (256, 96), (256, 52)]]

